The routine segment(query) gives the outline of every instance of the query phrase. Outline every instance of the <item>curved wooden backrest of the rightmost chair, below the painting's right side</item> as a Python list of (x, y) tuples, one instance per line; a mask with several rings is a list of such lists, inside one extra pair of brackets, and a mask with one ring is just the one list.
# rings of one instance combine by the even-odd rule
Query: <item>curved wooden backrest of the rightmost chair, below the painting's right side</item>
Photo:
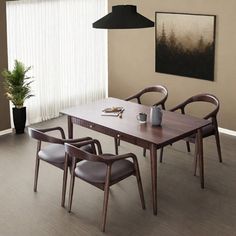
[(194, 103), (194, 102), (207, 102), (207, 103), (211, 103), (211, 104), (215, 105), (214, 109), (211, 110), (211, 112), (208, 113), (207, 115), (205, 115), (203, 118), (204, 119), (216, 118), (216, 115), (217, 115), (219, 108), (220, 108), (220, 102), (217, 97), (215, 97), (212, 94), (207, 94), (207, 93), (192, 96), (192, 97), (188, 98), (186, 101), (184, 101), (183, 103), (176, 106), (175, 108), (171, 109), (171, 111), (181, 109), (182, 113), (185, 113), (185, 111), (184, 111), (185, 107), (188, 104)]

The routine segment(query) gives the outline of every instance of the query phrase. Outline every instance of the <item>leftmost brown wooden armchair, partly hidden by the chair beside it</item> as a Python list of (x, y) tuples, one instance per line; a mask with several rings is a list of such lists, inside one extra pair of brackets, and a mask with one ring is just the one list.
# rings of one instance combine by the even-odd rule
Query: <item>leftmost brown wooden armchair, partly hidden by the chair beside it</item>
[[(56, 138), (46, 134), (47, 132), (59, 131), (61, 138)], [(66, 183), (67, 183), (67, 173), (68, 166), (71, 162), (65, 163), (65, 143), (78, 143), (85, 140), (91, 140), (90, 137), (78, 138), (78, 139), (66, 139), (65, 133), (61, 127), (53, 127), (48, 129), (28, 129), (29, 135), (38, 141), (37, 151), (36, 151), (36, 163), (35, 163), (35, 176), (34, 176), (34, 192), (37, 192), (38, 185), (38, 174), (39, 174), (39, 164), (40, 160), (45, 161), (53, 166), (58, 167), (63, 170), (63, 186), (62, 186), (62, 198), (61, 206), (65, 205), (65, 194), (66, 194)], [(48, 145), (42, 147), (42, 142), (49, 143)], [(85, 150), (93, 152), (91, 146), (84, 146)], [(66, 167), (65, 167), (66, 166)]]

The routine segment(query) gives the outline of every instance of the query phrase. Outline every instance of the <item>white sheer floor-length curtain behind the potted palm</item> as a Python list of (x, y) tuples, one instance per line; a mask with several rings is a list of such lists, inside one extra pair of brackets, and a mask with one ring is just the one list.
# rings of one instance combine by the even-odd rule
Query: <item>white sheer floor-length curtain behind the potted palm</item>
[(92, 28), (106, 13), (107, 0), (7, 2), (9, 68), (20, 60), (34, 77), (28, 124), (107, 96), (107, 33)]

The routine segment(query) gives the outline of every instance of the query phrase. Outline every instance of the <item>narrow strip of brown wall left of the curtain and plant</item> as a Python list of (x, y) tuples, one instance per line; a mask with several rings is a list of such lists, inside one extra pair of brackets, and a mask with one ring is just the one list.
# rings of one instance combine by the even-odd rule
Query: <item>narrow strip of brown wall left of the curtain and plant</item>
[[(5, 1), (0, 0), (0, 71), (7, 68), (7, 36)], [(9, 102), (4, 97), (0, 75), (0, 131), (10, 128)]]

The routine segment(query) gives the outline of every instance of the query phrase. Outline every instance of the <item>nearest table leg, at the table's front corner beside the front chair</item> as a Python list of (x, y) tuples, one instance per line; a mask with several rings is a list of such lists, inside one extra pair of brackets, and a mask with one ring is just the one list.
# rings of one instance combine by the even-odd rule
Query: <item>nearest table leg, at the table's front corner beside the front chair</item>
[(157, 149), (154, 144), (152, 144), (150, 147), (150, 158), (151, 158), (153, 214), (157, 215)]

